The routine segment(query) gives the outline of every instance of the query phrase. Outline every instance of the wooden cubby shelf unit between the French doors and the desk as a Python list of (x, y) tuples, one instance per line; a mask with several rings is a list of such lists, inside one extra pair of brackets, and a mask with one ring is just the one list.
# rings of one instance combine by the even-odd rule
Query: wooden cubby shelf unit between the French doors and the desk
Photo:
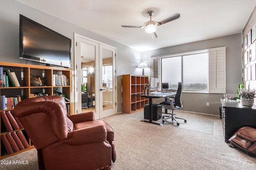
[(143, 98), (144, 85), (148, 84), (148, 76), (139, 76), (132, 74), (122, 75), (122, 112), (134, 113), (144, 109), (148, 104), (148, 98)]

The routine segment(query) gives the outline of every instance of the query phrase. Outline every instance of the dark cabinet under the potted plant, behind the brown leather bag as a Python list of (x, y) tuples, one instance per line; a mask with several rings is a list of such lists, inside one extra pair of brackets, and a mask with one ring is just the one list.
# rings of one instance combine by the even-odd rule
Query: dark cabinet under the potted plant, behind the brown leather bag
[(244, 126), (256, 128), (256, 105), (242, 106), (240, 100), (221, 98), (222, 129), (225, 142)]

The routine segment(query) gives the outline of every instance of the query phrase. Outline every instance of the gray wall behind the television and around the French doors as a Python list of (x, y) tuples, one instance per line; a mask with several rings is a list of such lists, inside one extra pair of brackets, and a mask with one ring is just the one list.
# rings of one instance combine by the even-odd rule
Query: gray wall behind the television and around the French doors
[[(0, 0), (0, 61), (26, 63), (25, 60), (19, 59), (19, 14), (72, 39), (72, 69), (74, 69), (74, 33), (117, 47), (117, 111), (122, 111), (121, 75), (138, 74), (136, 68), (140, 63), (141, 53), (139, 51), (14, 0)], [(31, 61), (27, 63), (40, 64)], [(72, 94), (74, 94), (74, 89)]]

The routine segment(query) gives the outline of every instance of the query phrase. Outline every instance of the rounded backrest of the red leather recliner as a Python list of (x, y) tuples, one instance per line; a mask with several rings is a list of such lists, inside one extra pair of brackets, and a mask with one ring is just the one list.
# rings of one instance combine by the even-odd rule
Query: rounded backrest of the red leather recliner
[(73, 130), (67, 117), (64, 98), (58, 95), (28, 98), (19, 102), (14, 110), (36, 149), (66, 139)]

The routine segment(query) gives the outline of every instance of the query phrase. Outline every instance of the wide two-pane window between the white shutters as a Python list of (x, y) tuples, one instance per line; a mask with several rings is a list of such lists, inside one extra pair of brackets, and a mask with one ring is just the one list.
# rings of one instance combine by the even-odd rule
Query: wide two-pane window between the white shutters
[(161, 80), (169, 88), (208, 92), (208, 51), (160, 57)]

